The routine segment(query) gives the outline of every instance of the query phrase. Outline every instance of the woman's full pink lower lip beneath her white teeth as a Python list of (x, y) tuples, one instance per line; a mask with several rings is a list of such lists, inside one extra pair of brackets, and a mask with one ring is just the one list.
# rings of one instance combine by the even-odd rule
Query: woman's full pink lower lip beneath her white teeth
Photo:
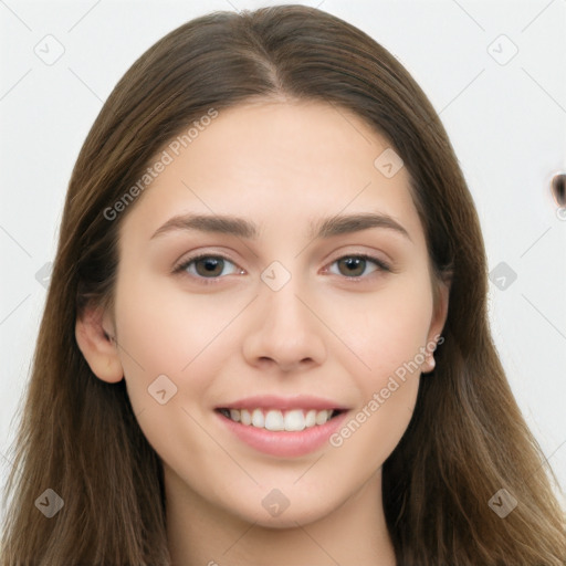
[(297, 458), (323, 447), (342, 426), (347, 411), (337, 415), (325, 424), (315, 424), (298, 432), (273, 432), (252, 424), (235, 422), (220, 412), (217, 415), (240, 440), (255, 450), (280, 458)]

